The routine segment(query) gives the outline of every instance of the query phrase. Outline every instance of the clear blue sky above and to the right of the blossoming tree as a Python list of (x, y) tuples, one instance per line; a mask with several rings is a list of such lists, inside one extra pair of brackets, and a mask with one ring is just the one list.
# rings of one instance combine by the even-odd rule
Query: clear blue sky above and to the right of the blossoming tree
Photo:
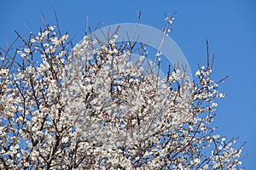
[(32, 31), (42, 26), (41, 13), (49, 23), (55, 23), (52, 3), (62, 31), (76, 35), (79, 42), (84, 35), (86, 16), (93, 28), (99, 21), (105, 25), (136, 22), (137, 11), (143, 12), (140, 23), (160, 28), (165, 24), (164, 14), (177, 10), (172, 26), (172, 39), (187, 57), (192, 71), (197, 62), (206, 62), (206, 39), (210, 54), (216, 55), (214, 77), (229, 75), (220, 89), (226, 98), (218, 102), (214, 126), (228, 139), (239, 136), (237, 145), (247, 141), (243, 161), (246, 169), (253, 169), (256, 161), (256, 1), (254, 0), (23, 0), (0, 2), (0, 46), (5, 37), (11, 42), (15, 30), (27, 35), (23, 25)]

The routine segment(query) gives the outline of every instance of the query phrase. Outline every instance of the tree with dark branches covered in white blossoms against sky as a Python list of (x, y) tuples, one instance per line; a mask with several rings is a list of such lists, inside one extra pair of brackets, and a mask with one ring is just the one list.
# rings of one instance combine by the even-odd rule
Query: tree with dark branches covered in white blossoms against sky
[(75, 46), (55, 26), (17, 36), (1, 53), (1, 169), (241, 167), (236, 139), (210, 126), (224, 94), (209, 62), (194, 82), (178, 65), (160, 78), (160, 60), (118, 32)]

